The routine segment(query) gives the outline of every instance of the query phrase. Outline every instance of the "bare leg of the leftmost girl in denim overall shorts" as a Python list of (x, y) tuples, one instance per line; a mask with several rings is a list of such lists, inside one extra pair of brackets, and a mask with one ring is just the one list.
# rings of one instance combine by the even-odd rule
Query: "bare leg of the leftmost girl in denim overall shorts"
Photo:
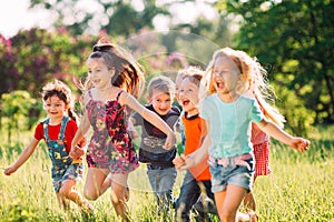
[(59, 190), (59, 193), (65, 196), (68, 200), (73, 201), (79, 206), (86, 209), (86, 210), (92, 210), (92, 205), (85, 200), (80, 193), (76, 190), (76, 181), (73, 180), (65, 180), (61, 183), (61, 188)]

